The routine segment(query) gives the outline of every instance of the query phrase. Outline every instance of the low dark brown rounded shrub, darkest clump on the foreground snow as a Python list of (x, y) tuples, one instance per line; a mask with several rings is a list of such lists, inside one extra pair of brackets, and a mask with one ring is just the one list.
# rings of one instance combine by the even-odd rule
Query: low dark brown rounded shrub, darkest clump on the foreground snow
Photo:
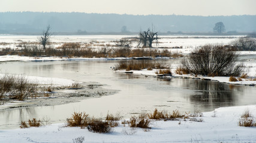
[(91, 119), (88, 123), (87, 129), (91, 132), (97, 133), (109, 133), (112, 128), (109, 126), (109, 122), (104, 122), (101, 119)]

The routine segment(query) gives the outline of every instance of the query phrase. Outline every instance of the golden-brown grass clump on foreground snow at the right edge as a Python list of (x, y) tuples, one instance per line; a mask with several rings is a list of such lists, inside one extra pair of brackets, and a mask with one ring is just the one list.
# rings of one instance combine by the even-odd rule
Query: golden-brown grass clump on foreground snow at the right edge
[(252, 114), (250, 113), (249, 110), (246, 110), (242, 114), (242, 116), (240, 117), (240, 119), (238, 121), (238, 125), (239, 126), (245, 126), (245, 127), (256, 126), (256, 122), (254, 120), (254, 117), (252, 116)]

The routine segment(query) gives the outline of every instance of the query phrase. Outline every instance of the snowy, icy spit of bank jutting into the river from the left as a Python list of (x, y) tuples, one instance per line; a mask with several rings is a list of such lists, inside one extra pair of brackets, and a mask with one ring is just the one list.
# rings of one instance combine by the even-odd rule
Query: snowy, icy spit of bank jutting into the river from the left
[[(0, 77), (4, 75), (8, 74), (0, 74)], [(98, 98), (116, 93), (115, 90), (104, 89), (104, 86), (97, 82), (75, 82), (70, 79), (22, 76), (28, 79), (30, 83), (38, 83), (38, 87), (40, 87), (40, 91), (37, 93), (38, 96), (33, 98), (29, 97), (25, 101), (1, 101), (0, 111), (68, 104), (88, 98)], [(73, 84), (78, 84), (79, 88), (73, 88)]]

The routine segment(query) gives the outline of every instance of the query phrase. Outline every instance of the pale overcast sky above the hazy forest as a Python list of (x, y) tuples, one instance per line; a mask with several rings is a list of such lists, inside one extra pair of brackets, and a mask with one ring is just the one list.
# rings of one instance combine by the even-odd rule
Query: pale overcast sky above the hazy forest
[(256, 0), (0, 0), (0, 12), (256, 15)]

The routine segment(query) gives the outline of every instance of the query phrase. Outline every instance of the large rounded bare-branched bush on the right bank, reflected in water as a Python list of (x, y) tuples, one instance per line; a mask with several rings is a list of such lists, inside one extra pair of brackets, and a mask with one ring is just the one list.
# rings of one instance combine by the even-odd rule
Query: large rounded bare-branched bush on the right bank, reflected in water
[(205, 45), (195, 49), (191, 56), (182, 61), (190, 73), (206, 76), (239, 76), (243, 65), (237, 64), (238, 55), (230, 48)]

